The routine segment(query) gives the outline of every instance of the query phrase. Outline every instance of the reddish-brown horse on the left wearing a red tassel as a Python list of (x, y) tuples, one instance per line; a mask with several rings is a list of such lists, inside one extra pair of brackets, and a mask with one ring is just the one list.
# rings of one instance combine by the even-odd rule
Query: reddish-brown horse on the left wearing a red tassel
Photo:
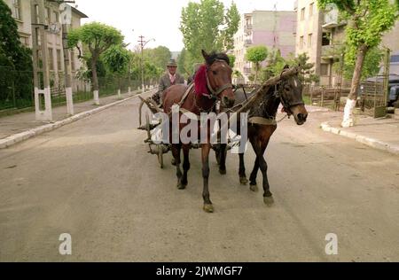
[[(187, 93), (187, 88), (184, 85), (176, 85), (164, 92), (163, 95), (163, 108), (165, 113), (170, 116), (172, 113), (173, 105), (180, 105), (180, 108), (200, 116), (201, 113), (215, 112), (216, 103), (221, 102), (225, 108), (230, 108), (234, 104), (233, 87), (231, 84), (231, 66), (230, 59), (223, 53), (207, 54), (202, 51), (206, 64), (201, 66), (195, 76), (195, 86)], [(185, 96), (185, 98), (184, 98)], [(182, 110), (180, 111), (180, 115)], [(170, 119), (170, 118), (169, 118)], [(171, 120), (170, 120), (171, 121)], [(190, 123), (190, 121), (188, 121)], [(188, 123), (188, 124), (189, 124)], [(179, 135), (182, 129), (188, 124), (179, 124)], [(172, 153), (176, 163), (177, 175), (177, 188), (184, 190), (188, 184), (187, 174), (190, 170), (189, 153), (192, 144), (179, 144), (172, 142), (172, 135), (177, 131), (172, 131), (170, 125), (170, 143), (172, 144)], [(200, 123), (198, 126), (200, 136)], [(204, 198), (204, 211), (213, 213), (214, 207), (209, 196), (208, 178), (209, 178), (209, 152), (211, 150), (210, 144), (210, 124), (207, 125), (207, 141), (201, 143), (202, 153), (202, 176), (203, 176), (203, 198)], [(179, 137), (180, 139), (180, 137)], [(184, 163), (182, 173), (180, 169), (181, 159), (180, 152), (183, 148)]]

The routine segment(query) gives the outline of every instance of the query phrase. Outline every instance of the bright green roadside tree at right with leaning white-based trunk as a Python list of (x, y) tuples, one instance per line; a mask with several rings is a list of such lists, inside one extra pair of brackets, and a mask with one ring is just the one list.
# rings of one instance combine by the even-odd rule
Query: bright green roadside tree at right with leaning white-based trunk
[(352, 86), (348, 96), (343, 127), (353, 126), (353, 109), (364, 67), (364, 58), (372, 48), (378, 47), (382, 36), (395, 25), (398, 5), (389, 0), (318, 0), (320, 8), (335, 6), (343, 19), (348, 20), (345, 60), (354, 65)]

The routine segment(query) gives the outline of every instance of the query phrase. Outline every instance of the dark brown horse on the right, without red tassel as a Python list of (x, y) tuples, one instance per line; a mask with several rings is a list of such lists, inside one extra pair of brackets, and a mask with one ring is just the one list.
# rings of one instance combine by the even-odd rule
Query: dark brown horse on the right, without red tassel
[[(285, 69), (287, 69), (286, 66)], [(240, 104), (245, 101), (245, 96), (242, 92), (236, 91), (236, 103)], [(250, 98), (250, 97), (248, 97)], [(254, 102), (248, 113), (248, 139), (254, 148), (256, 159), (254, 162), (254, 169), (249, 178), (251, 191), (258, 191), (256, 177), (259, 169), (263, 175), (263, 198), (264, 202), (269, 205), (273, 203), (273, 196), (270, 192), (270, 184), (268, 180), (268, 164), (264, 159), (264, 152), (270, 142), (270, 137), (278, 128), (276, 116), (279, 105), (283, 105), (283, 111), (288, 116), (293, 115), (294, 120), (298, 125), (302, 125), (308, 118), (305, 104), (302, 99), (302, 85), (298, 75), (292, 75), (288, 78), (283, 78), (276, 86), (269, 88), (267, 93), (264, 93), (262, 98)], [(238, 125), (239, 128), (239, 125)], [(240, 131), (237, 131), (240, 135)], [(216, 152), (219, 156), (220, 172), (226, 173), (226, 154), (227, 145), (221, 145), (221, 150)], [(244, 154), (239, 154), (239, 181), (241, 184), (247, 184), (246, 167), (244, 162)]]

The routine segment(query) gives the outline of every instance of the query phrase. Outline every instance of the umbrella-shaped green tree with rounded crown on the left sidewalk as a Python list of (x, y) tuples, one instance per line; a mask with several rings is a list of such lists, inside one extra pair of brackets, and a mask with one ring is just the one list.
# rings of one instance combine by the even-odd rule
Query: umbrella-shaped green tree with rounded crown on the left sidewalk
[(73, 29), (68, 34), (69, 47), (77, 48), (81, 54), (81, 58), (82, 50), (80, 48), (80, 43), (90, 51), (90, 56), (85, 57), (85, 60), (88, 68), (91, 70), (93, 90), (98, 90), (98, 59), (113, 45), (120, 45), (122, 42), (123, 35), (121, 35), (121, 31), (99, 22), (85, 24), (80, 28)]

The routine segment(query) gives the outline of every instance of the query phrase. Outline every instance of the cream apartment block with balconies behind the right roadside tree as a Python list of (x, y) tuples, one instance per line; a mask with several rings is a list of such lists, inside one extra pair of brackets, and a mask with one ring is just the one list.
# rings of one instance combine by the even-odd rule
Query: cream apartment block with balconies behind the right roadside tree
[[(346, 21), (340, 20), (339, 12), (333, 6), (325, 12), (317, 8), (317, 0), (298, 0), (294, 10), (297, 12), (296, 55), (307, 53), (315, 64), (315, 73), (320, 76), (320, 85), (336, 86), (341, 82), (348, 87), (351, 81), (340, 81), (340, 75), (333, 65), (340, 61), (345, 41)], [(384, 36), (381, 46), (399, 51), (399, 22)]]

